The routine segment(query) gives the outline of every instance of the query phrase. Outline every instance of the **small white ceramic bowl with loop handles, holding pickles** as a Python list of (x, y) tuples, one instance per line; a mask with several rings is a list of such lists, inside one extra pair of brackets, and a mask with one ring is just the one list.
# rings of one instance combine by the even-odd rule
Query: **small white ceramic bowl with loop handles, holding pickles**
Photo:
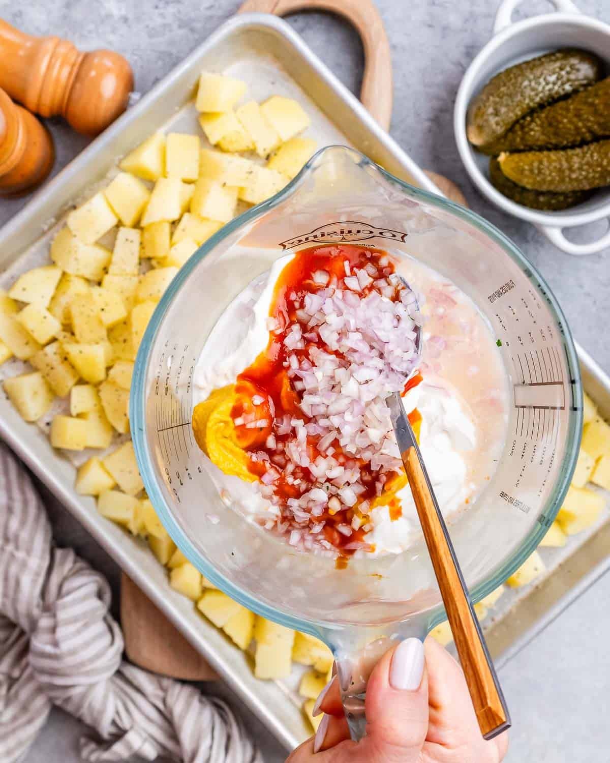
[(592, 254), (610, 246), (610, 225), (604, 235), (591, 243), (567, 240), (563, 228), (576, 227), (610, 217), (610, 188), (573, 209), (541, 212), (516, 204), (491, 185), (489, 157), (470, 146), (466, 137), (466, 112), (474, 95), (502, 69), (541, 53), (562, 47), (578, 47), (596, 53), (610, 74), (610, 25), (581, 14), (571, 0), (551, 0), (556, 12), (512, 22), (512, 13), (524, 0), (503, 0), (496, 14), (493, 37), (468, 67), (461, 81), (454, 108), (457, 150), (470, 178), (480, 192), (497, 207), (527, 220), (542, 231), (555, 246), (569, 254)]

